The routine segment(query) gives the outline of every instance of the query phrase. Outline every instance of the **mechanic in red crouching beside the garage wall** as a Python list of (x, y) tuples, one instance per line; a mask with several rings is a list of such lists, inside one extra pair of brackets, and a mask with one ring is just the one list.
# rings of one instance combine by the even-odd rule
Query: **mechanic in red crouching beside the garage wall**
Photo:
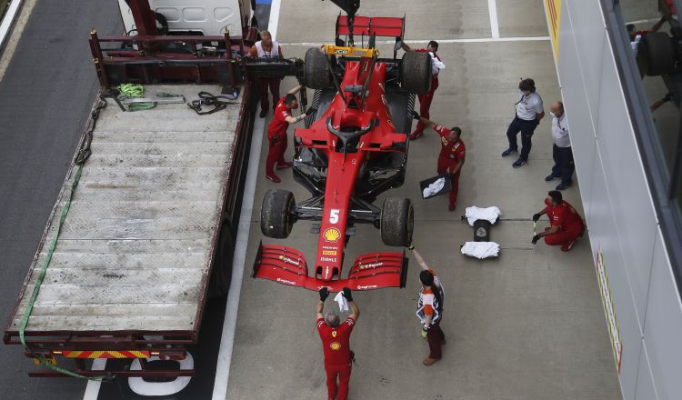
[(540, 237), (544, 237), (547, 245), (560, 245), (561, 251), (567, 252), (585, 232), (585, 224), (573, 205), (564, 201), (561, 192), (553, 190), (548, 195), (549, 197), (545, 199), (547, 207), (533, 215), (533, 221), (536, 222), (540, 216), (547, 214), (550, 226), (545, 232), (533, 236), (531, 243), (535, 245)]

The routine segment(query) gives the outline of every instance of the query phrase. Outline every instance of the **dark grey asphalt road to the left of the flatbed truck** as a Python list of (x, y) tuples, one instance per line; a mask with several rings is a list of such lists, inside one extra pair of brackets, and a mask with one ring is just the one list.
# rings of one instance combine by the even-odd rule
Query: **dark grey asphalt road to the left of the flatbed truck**
[[(0, 315), (3, 326), (97, 93), (88, 33), (122, 30), (115, 1), (38, 0), (0, 81)], [(3, 398), (81, 398), (77, 379), (29, 378), (20, 346), (0, 346)], [(5, 395), (11, 394), (10, 397)], [(49, 394), (46, 396), (46, 394)]]

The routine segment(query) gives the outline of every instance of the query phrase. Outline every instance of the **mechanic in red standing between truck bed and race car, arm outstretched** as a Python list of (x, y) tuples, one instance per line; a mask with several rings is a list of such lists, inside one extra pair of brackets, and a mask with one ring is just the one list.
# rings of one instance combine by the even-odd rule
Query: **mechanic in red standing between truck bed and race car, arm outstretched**
[[(289, 124), (294, 124), (306, 118), (306, 114), (298, 116), (291, 116), (291, 110), (298, 108), (298, 100), (296, 100), (296, 93), (301, 90), (303, 86), (296, 86), (291, 89), (284, 97), (282, 97), (275, 107), (275, 116), (273, 116), (270, 125), (267, 126), (267, 142), (270, 144), (270, 149), (267, 152), (266, 159), (266, 178), (275, 182), (276, 184), (282, 182), (279, 176), (275, 175), (275, 163), (277, 169), (289, 168), (292, 163), (285, 161), (284, 154), (286, 152), (286, 128)], [(307, 114), (315, 114), (315, 108), (309, 108)]]

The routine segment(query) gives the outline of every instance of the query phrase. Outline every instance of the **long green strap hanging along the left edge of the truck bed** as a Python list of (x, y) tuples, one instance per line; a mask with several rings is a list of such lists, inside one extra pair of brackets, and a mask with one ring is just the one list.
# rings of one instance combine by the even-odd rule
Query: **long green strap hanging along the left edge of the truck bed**
[[(55, 247), (56, 247), (56, 242), (57, 238), (59, 237), (59, 233), (62, 231), (62, 225), (64, 225), (64, 221), (66, 219), (66, 215), (69, 212), (69, 208), (71, 208), (71, 200), (74, 198), (74, 192), (76, 186), (78, 186), (78, 181), (80, 181), (81, 174), (83, 173), (83, 165), (78, 165), (78, 169), (75, 171), (75, 176), (74, 176), (74, 182), (71, 184), (71, 193), (69, 194), (68, 200), (66, 201), (66, 204), (64, 206), (64, 209), (62, 210), (62, 215), (59, 217), (59, 224), (57, 225), (57, 230), (56, 230), (56, 235), (53, 237), (52, 241), (50, 242), (50, 246), (47, 248), (47, 255), (45, 255), (45, 261), (43, 262), (43, 266), (40, 269), (40, 273), (38, 274), (38, 278), (35, 281), (35, 286), (33, 288), (33, 293), (31, 293), (31, 299), (28, 301), (28, 305), (26, 306), (26, 311), (24, 313), (24, 318), (21, 321), (21, 326), (19, 327), (19, 339), (21, 340), (21, 344), (24, 345), (24, 348), (27, 353), (31, 353), (31, 351), (28, 349), (28, 346), (26, 345), (26, 340), (24, 337), (24, 332), (26, 329), (26, 325), (28, 325), (28, 318), (31, 316), (31, 312), (33, 311), (33, 306), (35, 305), (35, 299), (38, 298), (38, 293), (40, 293), (40, 285), (43, 285), (43, 280), (45, 279), (45, 272), (47, 271), (47, 265), (50, 265), (50, 261), (52, 260), (52, 255), (55, 253)], [(75, 378), (85, 378), (85, 379), (90, 379), (94, 381), (101, 381), (105, 376), (95, 376), (95, 377), (88, 377), (80, 374), (76, 374), (73, 371), (69, 371), (64, 368), (60, 368), (56, 365), (52, 365), (48, 363), (44, 358), (42, 357), (34, 357), (36, 360), (40, 362), (40, 364), (45, 365), (46, 367), (53, 369), (57, 372), (60, 372), (65, 375), (73, 376)]]

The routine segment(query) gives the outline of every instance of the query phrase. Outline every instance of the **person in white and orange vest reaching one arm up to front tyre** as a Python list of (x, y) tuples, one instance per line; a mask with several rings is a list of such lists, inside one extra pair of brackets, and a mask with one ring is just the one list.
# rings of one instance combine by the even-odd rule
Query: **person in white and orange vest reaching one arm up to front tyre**
[(415, 250), (414, 245), (407, 247), (415, 255), (416, 262), (422, 267), (419, 273), (419, 282), (422, 284), (419, 291), (419, 301), (416, 305), (416, 316), (422, 324), (422, 338), (428, 342), (429, 354), (424, 359), (424, 365), (433, 365), (443, 356), (441, 346), (446, 344), (446, 335), (440, 328), (443, 317), (443, 302), (445, 291), (440, 279), (429, 268), (422, 255)]

